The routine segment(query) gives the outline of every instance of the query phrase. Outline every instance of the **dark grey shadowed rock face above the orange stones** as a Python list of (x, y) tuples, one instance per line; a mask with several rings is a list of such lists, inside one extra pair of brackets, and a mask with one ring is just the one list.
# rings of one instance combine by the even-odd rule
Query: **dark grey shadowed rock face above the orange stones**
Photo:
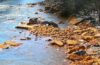
[[(59, 15), (91, 16), (100, 19), (100, 0), (45, 0), (47, 11)], [(98, 23), (100, 24), (100, 22)]]

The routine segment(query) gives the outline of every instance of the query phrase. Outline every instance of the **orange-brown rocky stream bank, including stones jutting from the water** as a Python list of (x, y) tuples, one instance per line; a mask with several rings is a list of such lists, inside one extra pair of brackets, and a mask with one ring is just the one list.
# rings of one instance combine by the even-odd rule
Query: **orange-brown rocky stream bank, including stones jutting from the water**
[[(27, 6), (34, 7), (37, 4), (45, 5), (43, 2), (39, 2), (29, 3)], [(39, 9), (39, 11), (46, 12), (42, 9)], [(38, 12), (35, 12), (35, 14), (38, 14)], [(100, 65), (100, 27), (93, 25), (90, 19), (78, 19), (76, 16), (72, 16), (68, 19), (69, 26), (61, 28), (58, 24), (65, 23), (63, 21), (59, 21), (57, 24), (41, 17), (33, 17), (28, 22), (21, 22), (16, 28), (27, 30), (36, 37), (35, 40), (41, 37), (50, 37), (46, 41), (51, 46), (65, 49), (64, 53), (66, 59), (69, 60), (69, 65)], [(25, 37), (20, 40), (31, 39)], [(6, 41), (0, 44), (1, 49), (19, 46), (23, 46), (23, 44), (15, 41)]]

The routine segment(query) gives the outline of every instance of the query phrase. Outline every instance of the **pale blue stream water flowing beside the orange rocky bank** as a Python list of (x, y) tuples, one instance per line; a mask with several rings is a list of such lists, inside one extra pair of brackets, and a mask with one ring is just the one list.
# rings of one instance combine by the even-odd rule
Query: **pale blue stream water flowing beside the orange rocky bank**
[[(44, 9), (43, 6), (27, 6), (27, 3), (40, 1), (42, 0), (0, 0), (0, 43), (7, 40), (23, 43), (16, 48), (0, 49), (0, 65), (66, 65), (65, 53), (48, 45), (47, 38), (38, 38), (36, 41), (35, 36), (29, 35), (28, 31), (15, 29), (20, 22), (28, 21), (28, 17), (61, 20), (52, 14), (39, 12), (38, 9)], [(34, 14), (35, 12), (39, 14)], [(23, 37), (31, 37), (32, 40), (21, 41), (20, 38)]]

